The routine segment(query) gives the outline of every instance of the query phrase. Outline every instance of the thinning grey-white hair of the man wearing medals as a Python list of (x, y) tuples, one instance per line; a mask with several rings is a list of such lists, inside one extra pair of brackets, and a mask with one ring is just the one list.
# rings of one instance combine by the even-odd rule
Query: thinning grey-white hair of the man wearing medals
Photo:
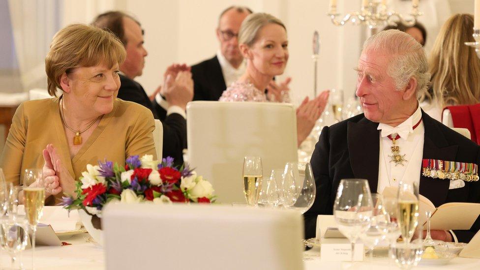
[(399, 30), (384, 30), (363, 43), (363, 51), (390, 55), (387, 74), (395, 82), (395, 89), (404, 88), (410, 78), (417, 79), (417, 96), (428, 89), (431, 74), (425, 50), (411, 35)]

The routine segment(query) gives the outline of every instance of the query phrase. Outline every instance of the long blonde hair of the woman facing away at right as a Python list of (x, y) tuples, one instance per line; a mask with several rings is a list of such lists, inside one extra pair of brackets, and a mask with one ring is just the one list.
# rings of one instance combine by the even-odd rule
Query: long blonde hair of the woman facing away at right
[(442, 108), (480, 102), (480, 61), (475, 49), (464, 45), (475, 41), (473, 21), (471, 14), (455, 14), (442, 26), (429, 59), (433, 92), (422, 99), (435, 100)]

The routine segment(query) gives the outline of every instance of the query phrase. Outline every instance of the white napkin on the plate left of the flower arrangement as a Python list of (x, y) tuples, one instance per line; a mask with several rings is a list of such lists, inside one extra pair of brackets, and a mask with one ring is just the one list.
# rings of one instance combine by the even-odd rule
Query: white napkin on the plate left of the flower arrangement
[[(18, 212), (25, 213), (23, 205), (18, 206)], [(68, 215), (68, 210), (61, 206), (43, 207), (43, 215), (39, 223), (52, 226), (56, 233), (76, 231), (82, 227), (78, 211), (71, 210), (70, 215)]]

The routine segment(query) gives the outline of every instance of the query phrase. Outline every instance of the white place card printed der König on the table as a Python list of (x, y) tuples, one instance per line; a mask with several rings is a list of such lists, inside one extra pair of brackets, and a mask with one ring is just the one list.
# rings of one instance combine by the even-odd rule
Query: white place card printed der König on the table
[[(320, 261), (344, 262), (352, 260), (352, 245), (350, 243), (324, 243), (320, 250)], [(363, 261), (363, 244), (355, 244), (354, 261)]]

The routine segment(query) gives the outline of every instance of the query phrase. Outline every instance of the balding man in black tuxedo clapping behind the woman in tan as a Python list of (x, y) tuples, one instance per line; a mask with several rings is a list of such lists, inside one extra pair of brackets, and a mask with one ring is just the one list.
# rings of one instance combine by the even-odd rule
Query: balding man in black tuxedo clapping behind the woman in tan
[(120, 90), (118, 98), (133, 101), (149, 108), (155, 119), (163, 124), (163, 157), (172, 156), (176, 164), (183, 162), (182, 150), (186, 148), (185, 107), (193, 97), (191, 73), (185, 65), (174, 64), (165, 72), (162, 92), (170, 106), (168, 110), (154, 107), (143, 87), (133, 79), (142, 75), (147, 50), (143, 43), (140, 23), (121, 11), (110, 11), (97, 16), (93, 25), (111, 30), (125, 46), (126, 59), (120, 65)]

